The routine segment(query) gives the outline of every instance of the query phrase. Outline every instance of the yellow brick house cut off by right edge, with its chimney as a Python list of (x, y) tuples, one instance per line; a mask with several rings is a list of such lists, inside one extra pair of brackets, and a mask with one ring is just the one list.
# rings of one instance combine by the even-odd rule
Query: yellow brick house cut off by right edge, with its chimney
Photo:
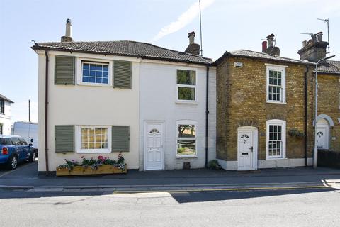
[[(322, 32), (319, 32), (312, 35), (308, 42), (302, 42), (298, 54), (301, 60), (317, 62), (326, 57), (328, 45), (322, 40)], [(320, 63), (317, 68), (317, 147), (318, 150), (340, 151), (340, 61)]]

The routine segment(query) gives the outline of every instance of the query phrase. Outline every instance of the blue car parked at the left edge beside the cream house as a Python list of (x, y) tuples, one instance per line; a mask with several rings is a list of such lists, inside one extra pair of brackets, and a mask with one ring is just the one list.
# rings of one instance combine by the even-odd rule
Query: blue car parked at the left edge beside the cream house
[[(33, 142), (33, 141), (31, 141)], [(28, 144), (18, 135), (0, 135), (0, 165), (14, 170), (19, 162), (34, 162), (36, 153), (32, 144)]]

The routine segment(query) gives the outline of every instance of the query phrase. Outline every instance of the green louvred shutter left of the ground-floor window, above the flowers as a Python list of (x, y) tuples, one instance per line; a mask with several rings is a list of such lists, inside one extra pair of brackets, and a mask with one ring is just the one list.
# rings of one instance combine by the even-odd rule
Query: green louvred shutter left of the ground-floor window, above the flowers
[(74, 153), (74, 126), (55, 126), (55, 153)]

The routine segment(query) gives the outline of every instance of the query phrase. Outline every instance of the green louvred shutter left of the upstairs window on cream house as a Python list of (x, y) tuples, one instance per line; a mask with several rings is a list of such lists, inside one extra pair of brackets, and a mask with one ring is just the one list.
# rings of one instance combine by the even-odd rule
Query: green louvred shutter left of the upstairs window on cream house
[(74, 57), (55, 56), (55, 84), (74, 85)]

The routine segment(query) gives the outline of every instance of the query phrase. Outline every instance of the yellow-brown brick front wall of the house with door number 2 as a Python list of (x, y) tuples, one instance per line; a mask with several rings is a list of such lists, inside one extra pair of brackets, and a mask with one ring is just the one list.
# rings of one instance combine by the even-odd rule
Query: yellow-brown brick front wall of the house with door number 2
[[(243, 67), (234, 67), (242, 62)], [(266, 65), (286, 65), (287, 104), (266, 103)], [(282, 119), (286, 130), (305, 132), (305, 65), (271, 62), (244, 57), (228, 57), (217, 66), (217, 158), (237, 160), (237, 128), (259, 129), (259, 160), (266, 159), (266, 121)], [(308, 137), (312, 139), (312, 67), (308, 73)], [(286, 157), (305, 157), (305, 140), (286, 134)], [(308, 143), (312, 157), (312, 140)]]

